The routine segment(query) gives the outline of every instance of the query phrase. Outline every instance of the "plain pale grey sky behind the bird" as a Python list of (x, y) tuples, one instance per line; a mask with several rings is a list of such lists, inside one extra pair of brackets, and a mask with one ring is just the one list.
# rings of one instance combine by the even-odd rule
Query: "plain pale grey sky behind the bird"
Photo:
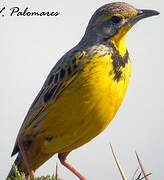
[[(10, 157), (23, 119), (49, 71), (82, 38), (87, 23), (107, 0), (3, 0), (0, 14), (0, 179), (5, 179), (16, 156)], [(72, 151), (70, 162), (88, 180), (119, 180), (109, 144), (132, 179), (138, 167), (138, 152), (150, 179), (164, 179), (164, 83), (163, 1), (127, 0), (141, 9), (154, 9), (159, 16), (136, 24), (126, 37), (132, 73), (124, 101), (109, 127), (88, 144)], [(9, 9), (28, 7), (36, 11), (58, 11), (54, 17), (10, 16)], [(36, 171), (52, 175), (56, 162), (63, 180), (77, 179), (56, 155)]]

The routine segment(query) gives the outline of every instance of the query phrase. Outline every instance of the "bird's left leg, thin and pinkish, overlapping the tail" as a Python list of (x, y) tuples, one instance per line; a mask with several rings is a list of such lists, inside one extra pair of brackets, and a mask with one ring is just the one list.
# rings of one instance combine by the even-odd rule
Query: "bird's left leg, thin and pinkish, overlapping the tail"
[[(29, 176), (35, 178), (34, 170), (32, 169), (31, 163), (30, 163), (30, 161), (28, 159), (28, 156), (27, 156), (27, 153), (26, 153), (26, 151), (24, 149), (23, 142), (22, 142), (22, 140), (20, 138), (18, 139), (18, 146), (19, 146), (19, 150), (20, 150), (20, 152), (21, 152), (21, 154), (23, 156), (24, 162), (26, 164)], [(28, 177), (28, 179), (29, 179), (29, 177)]]

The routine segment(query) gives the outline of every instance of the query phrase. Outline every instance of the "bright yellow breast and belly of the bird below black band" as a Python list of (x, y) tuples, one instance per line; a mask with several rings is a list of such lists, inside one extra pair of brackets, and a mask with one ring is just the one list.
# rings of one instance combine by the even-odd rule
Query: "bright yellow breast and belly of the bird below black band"
[(80, 74), (58, 97), (46, 117), (47, 137), (55, 138), (43, 151), (72, 151), (108, 126), (123, 100), (130, 76), (127, 62), (119, 81), (115, 80), (112, 62), (111, 55), (99, 54), (83, 60)]

